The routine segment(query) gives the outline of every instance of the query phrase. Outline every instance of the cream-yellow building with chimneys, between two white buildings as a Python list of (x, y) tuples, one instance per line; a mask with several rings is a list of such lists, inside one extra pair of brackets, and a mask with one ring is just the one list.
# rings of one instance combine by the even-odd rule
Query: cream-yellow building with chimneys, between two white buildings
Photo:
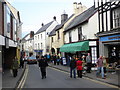
[(60, 47), (64, 45), (64, 30), (67, 25), (80, 13), (87, 9), (86, 6), (82, 5), (81, 2), (73, 3), (73, 14), (68, 18), (68, 14), (65, 12), (61, 15), (61, 24), (56, 26), (56, 28), (50, 34), (50, 46), (51, 46), (51, 53), (60, 54), (64, 56), (64, 53), (60, 52)]

